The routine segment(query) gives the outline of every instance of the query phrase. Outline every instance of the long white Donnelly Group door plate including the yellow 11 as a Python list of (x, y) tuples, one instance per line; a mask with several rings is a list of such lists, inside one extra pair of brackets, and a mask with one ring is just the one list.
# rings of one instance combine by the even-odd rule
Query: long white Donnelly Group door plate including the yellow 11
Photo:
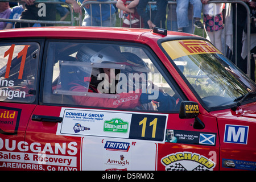
[(57, 135), (88, 135), (164, 143), (168, 114), (61, 109)]

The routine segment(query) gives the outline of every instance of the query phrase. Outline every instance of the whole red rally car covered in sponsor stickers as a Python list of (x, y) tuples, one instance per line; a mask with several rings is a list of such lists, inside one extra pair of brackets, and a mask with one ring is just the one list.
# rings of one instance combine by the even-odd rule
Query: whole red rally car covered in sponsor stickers
[(0, 170), (255, 170), (256, 85), (154, 28), (0, 32)]

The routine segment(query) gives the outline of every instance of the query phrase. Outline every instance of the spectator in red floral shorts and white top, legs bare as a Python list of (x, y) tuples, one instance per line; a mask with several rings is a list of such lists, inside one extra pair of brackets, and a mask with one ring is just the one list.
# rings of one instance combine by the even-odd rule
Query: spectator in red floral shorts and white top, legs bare
[(207, 33), (207, 39), (222, 51), (221, 32), (224, 28), (223, 24), (223, 3), (208, 4), (209, 0), (201, 0), (204, 5), (204, 27)]

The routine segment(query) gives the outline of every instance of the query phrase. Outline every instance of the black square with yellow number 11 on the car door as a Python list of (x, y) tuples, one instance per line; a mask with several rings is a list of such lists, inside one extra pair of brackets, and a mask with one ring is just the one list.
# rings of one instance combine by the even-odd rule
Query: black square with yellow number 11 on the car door
[(130, 139), (164, 141), (166, 115), (133, 114)]

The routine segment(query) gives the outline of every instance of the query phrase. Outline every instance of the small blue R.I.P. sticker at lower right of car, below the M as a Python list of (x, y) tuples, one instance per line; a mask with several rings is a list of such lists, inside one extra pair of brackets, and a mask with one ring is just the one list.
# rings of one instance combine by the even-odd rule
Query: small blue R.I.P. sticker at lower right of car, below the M
[(234, 159), (222, 159), (222, 167), (255, 171), (256, 162)]

